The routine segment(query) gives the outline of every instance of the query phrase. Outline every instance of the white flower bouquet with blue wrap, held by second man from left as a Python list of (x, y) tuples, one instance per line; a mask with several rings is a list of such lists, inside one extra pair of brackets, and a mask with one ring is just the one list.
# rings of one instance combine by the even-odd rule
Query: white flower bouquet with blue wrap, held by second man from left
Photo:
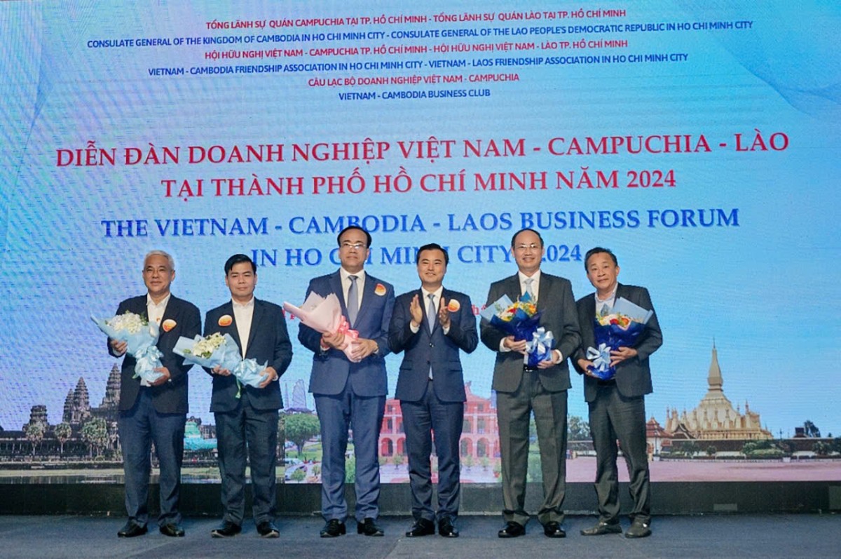
[[(213, 369), (219, 365), (220, 369), (230, 370), (230, 374), (236, 377), (239, 388), (242, 385), (260, 386), (266, 377), (262, 371), (265, 365), (259, 365), (257, 359), (242, 359), (240, 347), (236, 345), (234, 338), (229, 333), (216, 332), (209, 336), (196, 336), (193, 339), (181, 336), (175, 343), (172, 352), (181, 355), (188, 363), (194, 363)], [(236, 397), (241, 396), (241, 391), (236, 392)]]

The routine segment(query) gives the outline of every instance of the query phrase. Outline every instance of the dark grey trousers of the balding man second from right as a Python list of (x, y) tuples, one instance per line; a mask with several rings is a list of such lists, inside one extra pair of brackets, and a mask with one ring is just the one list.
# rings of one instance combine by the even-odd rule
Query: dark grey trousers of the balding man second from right
[(543, 476), (541, 524), (563, 522), (567, 477), (567, 391), (547, 391), (537, 371), (524, 371), (514, 392), (496, 393), (502, 462), (502, 515), (506, 522), (525, 525), (529, 420), (534, 412)]

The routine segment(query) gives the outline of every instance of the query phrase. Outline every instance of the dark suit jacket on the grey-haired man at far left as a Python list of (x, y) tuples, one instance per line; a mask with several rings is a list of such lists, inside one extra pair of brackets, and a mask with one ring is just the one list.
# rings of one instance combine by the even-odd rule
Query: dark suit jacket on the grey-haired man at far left
[[(147, 317), (146, 295), (131, 297), (119, 304), (117, 314), (125, 311), (134, 312), (142, 317)], [(147, 317), (148, 318), (148, 317)], [(157, 349), (161, 350), (161, 365), (167, 367), (170, 374), (170, 381), (161, 386), (151, 386), (152, 402), (158, 413), (188, 413), (188, 375), (187, 371), (193, 365), (185, 365), (184, 358), (172, 353), (172, 348), (180, 336), (194, 338), (201, 332), (202, 317), (198, 307), (175, 295), (170, 295), (167, 302), (167, 309), (161, 318), (161, 325), (167, 320), (175, 322), (175, 326), (169, 332), (164, 332), (161, 327), (161, 335), (158, 338)], [(108, 343), (108, 353), (114, 354), (114, 349)], [(140, 378), (135, 376), (135, 358), (126, 355), (123, 359), (123, 366), (120, 370), (119, 380), (119, 409), (130, 410), (135, 405), (138, 394), (140, 394)]]

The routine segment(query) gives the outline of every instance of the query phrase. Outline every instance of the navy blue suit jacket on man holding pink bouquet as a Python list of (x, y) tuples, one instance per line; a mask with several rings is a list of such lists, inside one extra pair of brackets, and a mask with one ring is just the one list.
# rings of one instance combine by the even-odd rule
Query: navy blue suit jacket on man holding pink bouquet
[[(315, 292), (322, 297), (335, 293), (341, 301), (341, 312), (347, 317), (344, 292), (339, 271), (311, 279), (305, 296)], [(352, 328), (360, 338), (373, 339), (378, 351), (359, 363), (352, 363), (338, 349), (321, 351), (321, 334), (304, 325), (298, 331), (299, 342), (313, 352), (309, 391), (313, 394), (335, 396), (349, 385), (357, 396), (385, 396), (389, 391), (385, 373), (385, 356), (389, 354), (389, 321), (394, 307), (394, 287), (373, 275), (365, 274), (365, 289), (359, 306), (357, 322)]]

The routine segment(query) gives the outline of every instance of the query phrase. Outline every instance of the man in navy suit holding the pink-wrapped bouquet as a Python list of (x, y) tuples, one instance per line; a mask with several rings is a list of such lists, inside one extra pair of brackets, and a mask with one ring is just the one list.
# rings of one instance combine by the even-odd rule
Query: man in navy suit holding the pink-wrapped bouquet
[(366, 274), (371, 235), (347, 226), (338, 236), (341, 268), (310, 280), (306, 295), (336, 294), (350, 327), (359, 333), (352, 359), (341, 350), (345, 333), (318, 333), (300, 325), (298, 339), (313, 352), (309, 391), (321, 423), (321, 514), (326, 521), (321, 537), (345, 533), (345, 452), (347, 432), (353, 429), (356, 458), (357, 533), (383, 535), (378, 526), (378, 440), (383, 423), (388, 383), (385, 356), (389, 353), (389, 321), (394, 288)]

